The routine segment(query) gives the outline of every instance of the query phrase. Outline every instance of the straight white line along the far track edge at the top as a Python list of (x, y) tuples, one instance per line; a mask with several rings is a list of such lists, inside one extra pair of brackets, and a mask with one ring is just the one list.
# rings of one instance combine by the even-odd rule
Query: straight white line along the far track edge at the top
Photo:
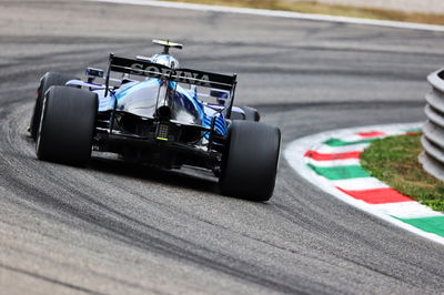
[(153, 0), (83, 0), (83, 1), (133, 4), (133, 6), (150, 6), (150, 7), (186, 9), (186, 10), (198, 10), (198, 11), (240, 13), (240, 14), (251, 14), (251, 16), (260, 16), (260, 17), (274, 17), (274, 18), (286, 18), (286, 19), (297, 19), (297, 20), (313, 20), (313, 21), (329, 21), (329, 22), (340, 22), (340, 23), (367, 24), (367, 26), (379, 26), (379, 27), (389, 27), (389, 28), (397, 28), (397, 29), (444, 32), (444, 26), (433, 26), (433, 24), (401, 22), (401, 21), (359, 19), (359, 18), (323, 16), (323, 14), (312, 14), (312, 13), (299, 13), (299, 12), (281, 11), (281, 10), (234, 8), (234, 7), (206, 6), (206, 4), (193, 4), (193, 3), (153, 1)]

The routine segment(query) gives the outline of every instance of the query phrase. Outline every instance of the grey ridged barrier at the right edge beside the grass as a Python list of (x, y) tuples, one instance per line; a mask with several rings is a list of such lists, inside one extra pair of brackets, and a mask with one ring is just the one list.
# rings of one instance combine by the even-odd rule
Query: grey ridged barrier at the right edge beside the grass
[(444, 181), (444, 69), (431, 73), (427, 80), (433, 90), (425, 95), (427, 122), (423, 128), (424, 152), (420, 161), (427, 173)]

